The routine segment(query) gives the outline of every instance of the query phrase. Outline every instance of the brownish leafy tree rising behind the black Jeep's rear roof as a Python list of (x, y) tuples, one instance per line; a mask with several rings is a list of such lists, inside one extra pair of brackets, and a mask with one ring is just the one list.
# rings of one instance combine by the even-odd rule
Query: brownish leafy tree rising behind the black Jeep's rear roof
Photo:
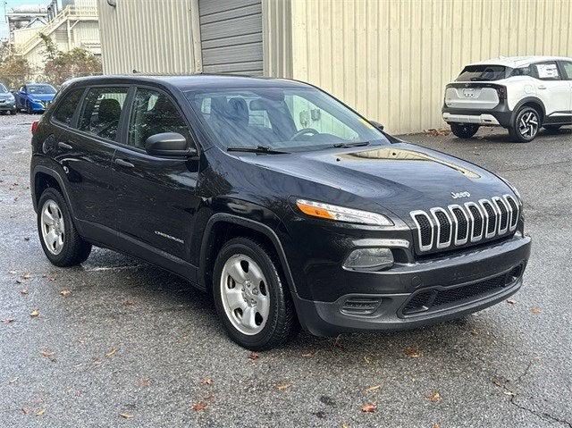
[[(48, 51), (49, 55), (49, 51)], [(59, 86), (65, 80), (81, 76), (94, 76), (103, 71), (101, 61), (86, 49), (76, 47), (69, 52), (55, 51), (44, 67), (46, 80)]]

